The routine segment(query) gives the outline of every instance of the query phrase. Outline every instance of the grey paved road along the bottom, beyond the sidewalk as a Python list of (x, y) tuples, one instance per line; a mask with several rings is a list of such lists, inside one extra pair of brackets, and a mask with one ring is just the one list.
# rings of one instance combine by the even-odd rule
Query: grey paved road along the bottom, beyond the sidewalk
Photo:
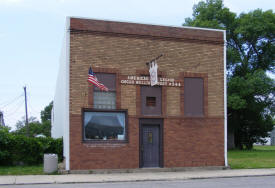
[(121, 183), (4, 185), (0, 188), (274, 188), (275, 176)]

